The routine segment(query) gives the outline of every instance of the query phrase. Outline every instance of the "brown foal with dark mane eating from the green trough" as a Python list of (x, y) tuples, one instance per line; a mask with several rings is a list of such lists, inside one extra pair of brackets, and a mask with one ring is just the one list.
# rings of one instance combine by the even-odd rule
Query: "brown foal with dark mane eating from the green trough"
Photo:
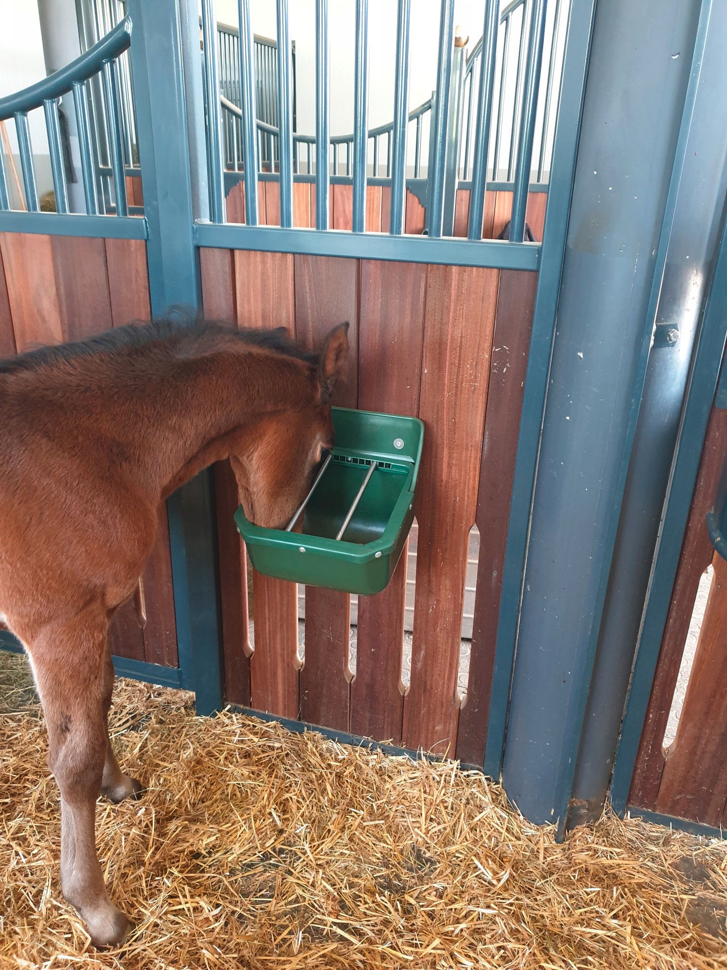
[(332, 446), (347, 331), (318, 356), (282, 330), (158, 322), (0, 362), (0, 620), (33, 668), (61, 887), (97, 946), (129, 921), (104, 886), (95, 802), (142, 791), (109, 741), (111, 615), (138, 586), (160, 502), (212, 462), (230, 459), (248, 518), (289, 520)]

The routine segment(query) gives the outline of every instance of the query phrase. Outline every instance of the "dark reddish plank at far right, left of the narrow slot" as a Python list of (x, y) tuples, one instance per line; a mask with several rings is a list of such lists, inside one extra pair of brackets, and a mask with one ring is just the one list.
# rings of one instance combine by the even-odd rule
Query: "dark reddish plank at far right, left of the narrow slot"
[(639, 808), (653, 810), (656, 806), (665, 763), (664, 732), (677, 687), (686, 635), (694, 601), (697, 598), (699, 581), (710, 565), (714, 552), (705, 527), (705, 515), (714, 501), (726, 454), (727, 411), (714, 407), (705, 436), (694, 498), (681, 543), (680, 562), (651, 685), (651, 694), (648, 698), (639, 754), (631, 780), (629, 803)]

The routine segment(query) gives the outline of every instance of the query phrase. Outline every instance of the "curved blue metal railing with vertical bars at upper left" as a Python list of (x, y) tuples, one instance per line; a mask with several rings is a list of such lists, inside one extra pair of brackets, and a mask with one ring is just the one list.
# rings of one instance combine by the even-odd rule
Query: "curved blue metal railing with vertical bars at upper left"
[[(20, 168), (22, 171), (23, 194), (28, 211), (40, 211), (38, 185), (33, 160), (28, 113), (43, 108), (46, 115), (46, 132), (50, 170), (55, 194), (55, 210), (67, 213), (68, 188), (66, 185), (64, 147), (61, 139), (61, 120), (59, 99), (73, 92), (76, 122), (79, 129), (80, 164), (83, 178), (85, 209), (88, 215), (99, 214), (99, 193), (97, 172), (94, 166), (88, 111), (88, 82), (100, 75), (103, 85), (103, 98), (109, 124), (109, 143), (111, 149), (111, 170), (115, 210), (117, 215), (128, 215), (126, 199), (126, 177), (124, 153), (119, 123), (119, 79), (118, 57), (131, 45), (131, 19), (125, 17), (106, 37), (66, 67), (56, 71), (43, 81), (30, 87), (0, 98), (0, 120), (13, 118)], [(0, 153), (0, 210), (10, 209), (10, 194), (5, 172), (5, 164)]]

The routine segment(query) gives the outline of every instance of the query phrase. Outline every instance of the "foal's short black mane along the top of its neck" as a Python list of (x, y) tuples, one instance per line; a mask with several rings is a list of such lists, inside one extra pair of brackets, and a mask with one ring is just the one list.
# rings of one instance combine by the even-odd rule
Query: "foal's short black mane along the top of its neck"
[(229, 324), (216, 320), (190, 321), (182, 317), (162, 318), (152, 320), (151, 323), (129, 323), (85, 340), (39, 347), (8, 360), (0, 360), (0, 374), (36, 371), (82, 358), (113, 356), (123, 350), (155, 343), (175, 343), (180, 347), (188, 347), (191, 351), (203, 339), (205, 343), (207, 340), (211, 341), (210, 349), (216, 339), (220, 346), (229, 341), (239, 341), (309, 364), (317, 364), (319, 359), (318, 354), (301, 347), (291, 339), (284, 327), (276, 330), (235, 330)]

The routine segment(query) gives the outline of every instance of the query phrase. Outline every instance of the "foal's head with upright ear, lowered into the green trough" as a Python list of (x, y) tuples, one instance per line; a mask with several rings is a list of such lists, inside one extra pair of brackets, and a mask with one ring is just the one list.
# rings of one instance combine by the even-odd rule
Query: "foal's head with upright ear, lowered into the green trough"
[[(329, 334), (308, 370), (302, 401), (270, 414), (246, 435), (230, 462), (245, 515), (257, 526), (284, 529), (310, 489), (325, 452), (333, 446), (331, 398), (348, 361), (348, 324)], [(242, 443), (242, 442), (240, 442)]]

